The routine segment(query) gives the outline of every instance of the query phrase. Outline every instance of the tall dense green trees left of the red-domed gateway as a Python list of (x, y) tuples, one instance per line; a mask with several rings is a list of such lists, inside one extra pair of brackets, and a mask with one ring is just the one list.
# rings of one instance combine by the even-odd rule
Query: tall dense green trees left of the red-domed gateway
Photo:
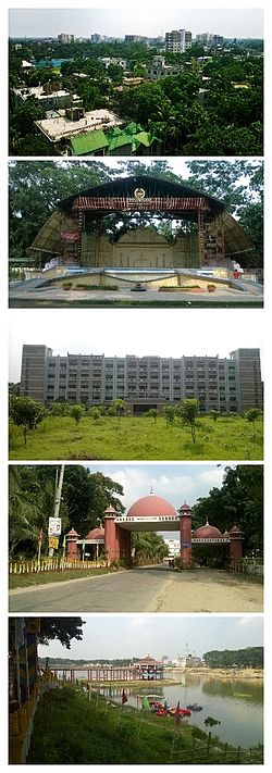
[[(53, 515), (55, 494), (54, 465), (13, 465), (9, 469), (10, 553), (33, 557), (37, 551), (40, 529), (42, 550), (47, 549), (48, 518)], [(122, 486), (102, 473), (90, 474), (87, 467), (66, 465), (60, 515), (62, 534), (74, 527), (84, 537), (103, 520), (112, 504), (120, 513), (124, 506)]]

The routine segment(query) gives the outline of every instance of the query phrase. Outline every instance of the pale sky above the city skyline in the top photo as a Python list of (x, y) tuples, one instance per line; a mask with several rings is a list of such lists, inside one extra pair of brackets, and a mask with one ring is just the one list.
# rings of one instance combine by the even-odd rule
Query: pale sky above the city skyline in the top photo
[(143, 8), (143, 13), (139, 13), (138, 3), (135, 7), (129, 3), (126, 8), (122, 7), (122, 3), (107, 3), (106, 8), (101, 8), (103, 4), (106, 5), (98, 3), (100, 8), (92, 9), (11, 9), (10, 36), (57, 37), (60, 33), (70, 33), (76, 37), (90, 37), (91, 34), (99, 33), (109, 37), (157, 37), (181, 28), (189, 29), (193, 36), (205, 32), (226, 38), (263, 36), (263, 14), (260, 8), (201, 9), (198, 7), (200, 3), (195, 3), (196, 10), (194, 3), (190, 3), (189, 9), (164, 5), (159, 12), (158, 4), (152, 8), (152, 3), (148, 3)]

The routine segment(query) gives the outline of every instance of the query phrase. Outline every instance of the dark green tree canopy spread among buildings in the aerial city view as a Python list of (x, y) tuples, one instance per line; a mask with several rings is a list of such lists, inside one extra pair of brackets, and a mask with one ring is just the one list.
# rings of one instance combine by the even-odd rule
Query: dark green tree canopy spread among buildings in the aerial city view
[[(258, 43), (258, 41), (257, 41)], [(165, 53), (138, 42), (22, 41), (22, 49), (10, 48), (10, 145), (12, 154), (21, 154), (22, 140), (27, 135), (29, 148), (37, 129), (36, 112), (29, 115), (30, 127), (24, 127), (21, 107), (14, 103), (13, 88), (29, 86), (41, 72), (55, 77), (64, 88), (75, 91), (87, 110), (113, 109), (124, 122), (136, 121), (152, 129), (160, 142), (161, 154), (205, 155), (261, 155), (262, 154), (262, 77), (261, 41), (230, 46), (227, 50), (211, 51), (211, 58), (201, 59), (203, 49), (193, 46), (184, 54)], [(166, 63), (178, 65), (174, 76), (153, 83), (147, 77), (147, 65), (153, 55), (162, 53)], [(107, 67), (101, 58), (122, 58), (126, 73), (145, 77), (145, 83), (133, 89), (119, 89), (122, 68), (118, 63)], [(54, 58), (65, 59), (59, 68), (52, 68)], [(200, 58), (200, 59), (199, 59)], [(22, 60), (42, 66), (22, 68)], [(76, 73), (86, 78), (76, 78)], [(27, 101), (28, 104), (28, 101)], [(39, 107), (35, 108), (37, 111)], [(26, 120), (28, 123), (28, 119)], [(29, 155), (30, 153), (27, 153)], [(48, 153), (45, 153), (48, 154)], [(58, 154), (58, 151), (55, 151)]]

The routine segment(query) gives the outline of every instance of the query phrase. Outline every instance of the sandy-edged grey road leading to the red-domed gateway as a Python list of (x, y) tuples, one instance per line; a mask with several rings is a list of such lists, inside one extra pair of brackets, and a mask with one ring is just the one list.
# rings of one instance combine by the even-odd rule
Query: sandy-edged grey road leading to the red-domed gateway
[(10, 612), (262, 612), (262, 586), (223, 571), (148, 566), (11, 590)]

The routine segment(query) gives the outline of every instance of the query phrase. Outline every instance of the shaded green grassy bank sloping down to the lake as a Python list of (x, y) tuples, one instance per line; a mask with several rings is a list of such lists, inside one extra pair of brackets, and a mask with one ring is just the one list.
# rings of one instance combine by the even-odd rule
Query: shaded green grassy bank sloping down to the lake
[[(175, 755), (171, 757), (171, 750)], [(28, 764), (169, 764), (203, 761), (224, 763), (224, 745), (174, 718), (158, 718), (127, 706), (109, 706), (104, 698), (82, 695), (72, 687), (44, 696), (34, 719)], [(237, 751), (228, 747), (236, 761)], [(242, 752), (246, 761), (249, 752)], [(231, 761), (227, 759), (227, 761)], [(249, 759), (247, 761), (250, 761)], [(261, 751), (256, 762), (261, 763)]]

